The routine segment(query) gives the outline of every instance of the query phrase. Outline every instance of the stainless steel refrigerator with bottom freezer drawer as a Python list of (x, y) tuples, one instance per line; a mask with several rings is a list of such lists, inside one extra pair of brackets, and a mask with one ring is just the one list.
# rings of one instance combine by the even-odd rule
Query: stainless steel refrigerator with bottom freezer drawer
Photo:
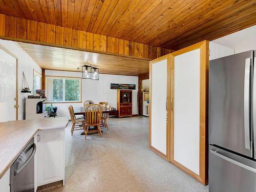
[(256, 191), (255, 57), (247, 51), (210, 61), (210, 192)]

